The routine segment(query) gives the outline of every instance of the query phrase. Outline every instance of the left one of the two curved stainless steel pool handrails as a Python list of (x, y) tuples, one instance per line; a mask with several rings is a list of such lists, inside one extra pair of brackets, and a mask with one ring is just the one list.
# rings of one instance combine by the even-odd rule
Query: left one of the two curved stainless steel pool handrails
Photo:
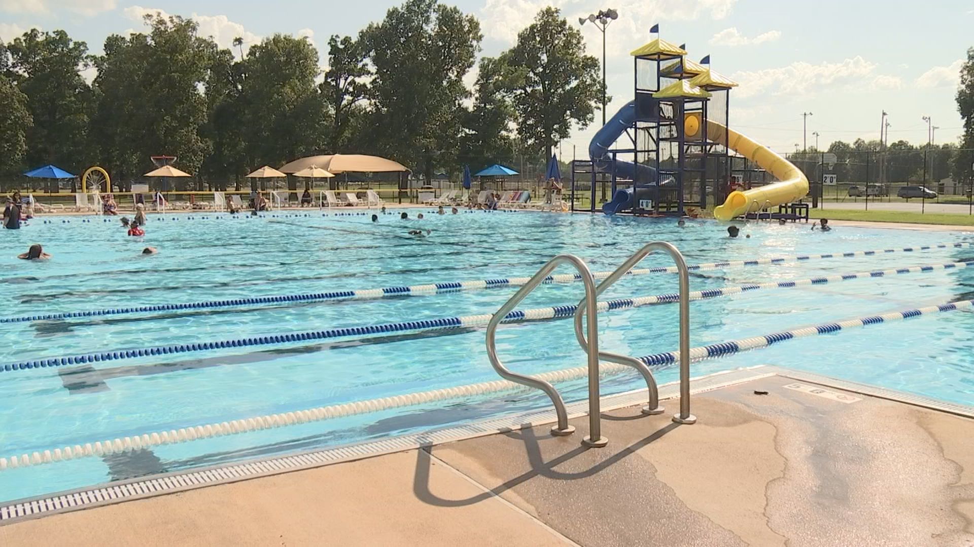
[[(522, 385), (527, 385), (528, 387), (541, 389), (542, 391), (544, 391), (545, 394), (547, 394), (548, 398), (551, 399), (551, 403), (554, 404), (555, 414), (558, 416), (557, 425), (551, 427), (552, 435), (571, 435), (572, 433), (575, 432), (575, 426), (569, 425), (568, 423), (568, 411), (565, 410), (565, 402), (562, 400), (561, 395), (558, 393), (558, 390), (554, 388), (554, 385), (544, 382), (543, 380), (538, 380), (535, 378), (531, 378), (530, 376), (517, 374), (507, 370), (507, 368), (504, 366), (504, 363), (502, 363), (501, 360), (497, 357), (496, 336), (497, 336), (497, 327), (504, 320), (507, 313), (513, 310), (515, 306), (520, 304), (520, 302), (524, 300), (524, 298), (528, 296), (528, 294), (530, 294), (531, 291), (535, 290), (535, 287), (542, 284), (544, 278), (547, 277), (548, 274), (551, 274), (551, 272), (554, 271), (555, 268), (565, 263), (569, 263), (572, 266), (574, 266), (575, 269), (578, 270), (579, 274), (581, 274), (581, 282), (584, 284), (585, 287), (585, 298), (583, 299), (582, 302), (585, 302), (588, 306), (590, 306), (594, 310), (595, 309), (595, 279), (592, 277), (591, 271), (588, 270), (588, 266), (585, 265), (584, 261), (582, 261), (581, 258), (575, 255), (561, 254), (549, 260), (547, 264), (545, 264), (542, 267), (542, 269), (538, 271), (537, 274), (534, 274), (534, 276), (531, 277), (531, 279), (529, 279), (528, 282), (525, 283), (520, 288), (520, 290), (514, 293), (514, 296), (510, 297), (510, 299), (505, 303), (504, 306), (501, 307), (500, 310), (497, 310), (497, 313), (494, 313), (494, 316), (491, 317), (490, 323), (487, 324), (487, 358), (490, 359), (491, 366), (494, 367), (494, 370), (497, 371), (497, 374), (501, 375), (501, 378), (504, 378), (505, 380), (508, 380), (513, 383), (520, 383)], [(591, 403), (592, 400), (591, 397), (593, 393), (592, 382), (594, 382), (595, 383), (595, 387), (594, 387), (595, 409), (598, 410), (598, 401), (599, 401), (598, 399), (598, 393), (599, 393), (598, 313), (597, 312), (592, 313), (589, 317), (587, 317), (587, 319), (588, 319), (587, 321), (588, 331), (596, 333), (596, 336), (589, 337), (586, 346), (588, 352), (589, 406), (592, 404)], [(596, 439), (597, 438), (598, 437), (596, 437)]]

